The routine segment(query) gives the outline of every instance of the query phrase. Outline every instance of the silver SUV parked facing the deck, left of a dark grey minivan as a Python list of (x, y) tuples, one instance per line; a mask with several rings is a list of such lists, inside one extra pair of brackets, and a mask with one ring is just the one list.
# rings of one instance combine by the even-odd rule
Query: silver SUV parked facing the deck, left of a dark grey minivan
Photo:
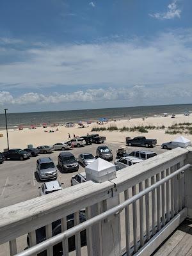
[(36, 161), (36, 172), (40, 180), (57, 179), (58, 172), (51, 157), (42, 157)]

